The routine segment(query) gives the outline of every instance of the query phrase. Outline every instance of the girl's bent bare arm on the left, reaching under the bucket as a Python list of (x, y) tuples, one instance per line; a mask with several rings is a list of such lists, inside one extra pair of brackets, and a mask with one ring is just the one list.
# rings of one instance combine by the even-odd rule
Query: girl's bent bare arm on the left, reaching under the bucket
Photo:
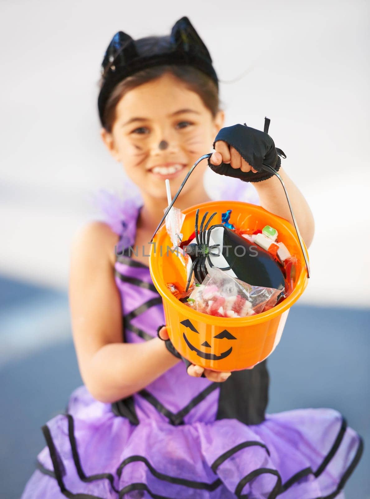
[(78, 364), (88, 390), (102, 402), (141, 390), (179, 362), (159, 338), (123, 343), (111, 256), (117, 238), (105, 223), (93, 222), (77, 234), (71, 253), (69, 300)]

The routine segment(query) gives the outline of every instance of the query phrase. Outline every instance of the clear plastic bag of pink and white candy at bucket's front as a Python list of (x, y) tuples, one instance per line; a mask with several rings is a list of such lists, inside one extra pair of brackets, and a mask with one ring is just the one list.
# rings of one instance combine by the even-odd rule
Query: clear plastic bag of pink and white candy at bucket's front
[(189, 306), (217, 317), (247, 317), (272, 308), (281, 296), (279, 289), (251, 286), (212, 267), (188, 298)]

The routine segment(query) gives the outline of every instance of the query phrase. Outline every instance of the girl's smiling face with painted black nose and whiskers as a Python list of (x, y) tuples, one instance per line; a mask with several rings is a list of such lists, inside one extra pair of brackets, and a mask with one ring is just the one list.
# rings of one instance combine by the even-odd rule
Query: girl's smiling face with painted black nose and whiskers
[[(170, 179), (174, 196), (191, 166), (210, 151), (223, 122), (222, 111), (214, 118), (196, 92), (166, 73), (128, 91), (117, 104), (112, 134), (103, 128), (101, 135), (141, 191), (165, 198), (164, 180)], [(206, 168), (204, 160), (181, 193), (203, 182)]]

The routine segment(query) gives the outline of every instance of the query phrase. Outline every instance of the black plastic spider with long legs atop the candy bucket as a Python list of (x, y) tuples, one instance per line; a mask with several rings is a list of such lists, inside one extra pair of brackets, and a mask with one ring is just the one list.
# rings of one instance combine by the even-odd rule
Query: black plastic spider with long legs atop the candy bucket
[[(192, 243), (190, 245), (186, 246), (185, 252), (190, 256), (190, 258), (193, 261), (190, 275), (188, 278), (187, 286), (186, 286), (186, 291), (189, 289), (190, 285), (190, 280), (191, 276), (194, 271), (194, 276), (198, 280), (198, 282), (202, 283), (203, 280), (205, 279), (207, 275), (207, 267), (206, 267), (206, 259), (211, 267), (214, 266), (214, 264), (211, 261), (210, 255), (212, 256), (220, 256), (220, 250), (218, 253), (213, 253), (212, 250), (218, 248), (220, 245), (212, 245), (209, 246), (210, 242), (210, 237), (211, 237), (211, 231), (212, 229), (215, 229), (215, 227), (223, 227), (225, 229), (225, 226), (223, 224), (216, 224), (212, 225), (209, 229), (208, 226), (213, 219), (215, 215), (217, 215), (217, 212), (213, 213), (210, 218), (208, 219), (208, 222), (204, 226), (204, 223), (206, 221), (208, 212), (206, 212), (202, 218), (201, 224), (200, 224), (200, 230), (198, 234), (198, 222), (199, 222), (199, 209), (196, 211), (195, 214), (195, 239), (197, 243)], [(207, 232), (207, 240), (206, 240), (206, 231)], [(219, 267), (221, 268), (221, 267)], [(222, 267), (221, 270), (229, 270), (231, 266), (229, 267)]]

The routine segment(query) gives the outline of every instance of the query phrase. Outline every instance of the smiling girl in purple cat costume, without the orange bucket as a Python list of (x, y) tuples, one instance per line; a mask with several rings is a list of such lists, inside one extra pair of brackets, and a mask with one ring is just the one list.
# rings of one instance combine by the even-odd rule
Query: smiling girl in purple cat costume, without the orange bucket
[[(174, 196), (224, 123), (217, 75), (190, 21), (177, 21), (171, 36), (133, 41), (117, 33), (103, 61), (98, 106), (102, 139), (142, 199), (119, 209), (110, 202), (107, 223), (93, 222), (76, 237), (69, 292), (85, 386), (66, 414), (43, 427), (47, 446), (22, 498), (343, 498), (362, 443), (340, 414), (265, 415), (265, 361), (232, 374), (186, 370), (161, 327), (162, 300), (146, 255), (167, 206), (164, 179)], [(253, 202), (257, 193), (263, 208), (291, 221), (278, 181), (255, 168), (267, 155), (280, 168), (272, 140), (248, 127), (243, 133), (245, 157), (217, 140), (210, 164), (255, 190), (223, 177), (226, 199)], [(195, 169), (177, 208), (210, 200), (207, 168), (203, 161)], [(279, 173), (309, 246), (311, 211)], [(139, 249), (131, 256), (130, 246)]]

